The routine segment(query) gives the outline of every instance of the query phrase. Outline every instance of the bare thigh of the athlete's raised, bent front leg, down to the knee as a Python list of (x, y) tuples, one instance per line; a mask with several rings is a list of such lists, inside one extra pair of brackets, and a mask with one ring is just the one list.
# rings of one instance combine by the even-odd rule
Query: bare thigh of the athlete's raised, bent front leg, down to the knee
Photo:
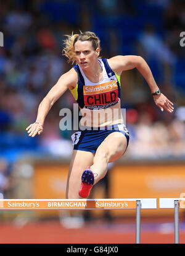
[(114, 131), (102, 141), (97, 148), (96, 154), (105, 152), (109, 157), (109, 162), (113, 162), (124, 154), (126, 147), (127, 139), (125, 135), (119, 131)]

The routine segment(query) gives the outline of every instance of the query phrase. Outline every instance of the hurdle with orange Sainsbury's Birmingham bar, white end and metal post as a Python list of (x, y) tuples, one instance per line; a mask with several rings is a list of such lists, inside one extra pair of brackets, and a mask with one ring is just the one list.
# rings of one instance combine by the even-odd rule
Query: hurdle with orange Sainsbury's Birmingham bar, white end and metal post
[(141, 209), (157, 209), (157, 198), (0, 199), (0, 210), (131, 210), (136, 209), (136, 244), (141, 239)]

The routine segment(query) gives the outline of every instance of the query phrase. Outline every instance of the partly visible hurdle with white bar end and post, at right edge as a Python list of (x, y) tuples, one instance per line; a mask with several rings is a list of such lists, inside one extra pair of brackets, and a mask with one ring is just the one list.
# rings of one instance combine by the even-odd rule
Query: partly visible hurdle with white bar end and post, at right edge
[(179, 244), (179, 208), (185, 208), (185, 198), (159, 198), (159, 208), (174, 209), (175, 244)]

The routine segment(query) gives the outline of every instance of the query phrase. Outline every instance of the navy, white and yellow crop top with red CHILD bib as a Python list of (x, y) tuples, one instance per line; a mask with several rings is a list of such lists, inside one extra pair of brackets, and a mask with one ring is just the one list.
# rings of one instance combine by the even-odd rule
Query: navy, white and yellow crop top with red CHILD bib
[(120, 76), (110, 68), (107, 59), (99, 59), (103, 69), (103, 78), (99, 82), (91, 82), (84, 75), (79, 65), (73, 68), (78, 73), (78, 84), (70, 90), (80, 108), (101, 110), (120, 101)]

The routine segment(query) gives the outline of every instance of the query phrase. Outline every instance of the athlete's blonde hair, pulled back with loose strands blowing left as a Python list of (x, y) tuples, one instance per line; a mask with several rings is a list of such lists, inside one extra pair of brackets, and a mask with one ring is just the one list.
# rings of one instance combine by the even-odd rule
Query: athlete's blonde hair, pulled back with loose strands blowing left
[(81, 32), (80, 34), (75, 34), (73, 35), (67, 35), (67, 39), (64, 40), (64, 49), (63, 53), (64, 56), (68, 58), (68, 63), (72, 62), (72, 64), (75, 62), (75, 43), (80, 40), (80, 41), (91, 41), (92, 42), (92, 47), (94, 50), (96, 50), (98, 47), (100, 48), (100, 40), (96, 36), (95, 33), (86, 31), (86, 32)]

